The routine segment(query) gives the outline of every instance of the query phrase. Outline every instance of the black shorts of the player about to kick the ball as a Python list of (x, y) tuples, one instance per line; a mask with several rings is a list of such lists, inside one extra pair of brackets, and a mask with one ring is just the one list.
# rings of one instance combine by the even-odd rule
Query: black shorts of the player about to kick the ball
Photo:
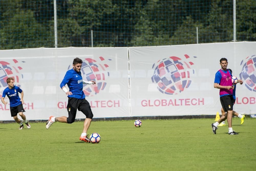
[[(68, 98), (68, 105), (67, 105), (67, 110), (70, 113), (77, 113), (77, 109), (79, 111), (84, 111), (85, 108), (89, 107), (91, 110), (91, 106), (89, 102), (84, 98), (84, 99), (78, 99), (74, 97), (69, 97)], [(86, 113), (83, 112), (83, 114), (87, 115)]]

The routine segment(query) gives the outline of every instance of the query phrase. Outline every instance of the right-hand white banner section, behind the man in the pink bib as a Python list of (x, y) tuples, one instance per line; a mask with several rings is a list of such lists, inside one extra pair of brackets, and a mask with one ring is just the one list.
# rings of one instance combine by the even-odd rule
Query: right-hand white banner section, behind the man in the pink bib
[(228, 59), (236, 86), (234, 110), (256, 113), (256, 43), (228, 42), (130, 47), (131, 116), (213, 115), (220, 112), (214, 88), (220, 59)]

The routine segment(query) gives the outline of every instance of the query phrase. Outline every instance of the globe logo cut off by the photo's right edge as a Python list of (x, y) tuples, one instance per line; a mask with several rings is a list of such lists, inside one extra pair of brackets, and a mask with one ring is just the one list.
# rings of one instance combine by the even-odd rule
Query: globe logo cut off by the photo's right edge
[(245, 86), (253, 92), (256, 92), (256, 55), (248, 56), (241, 61), (242, 72), (240, 79), (244, 80)]

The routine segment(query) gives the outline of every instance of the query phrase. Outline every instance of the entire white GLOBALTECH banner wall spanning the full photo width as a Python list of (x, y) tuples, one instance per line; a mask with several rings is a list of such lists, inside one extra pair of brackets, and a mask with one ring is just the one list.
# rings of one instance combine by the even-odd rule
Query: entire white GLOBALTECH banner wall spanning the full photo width
[[(214, 115), (220, 112), (214, 88), (220, 58), (228, 59), (236, 86), (234, 110), (256, 114), (256, 42), (229, 42), (158, 47), (35, 48), (0, 51), (0, 97), (13, 77), (24, 91), (29, 120), (68, 116), (68, 98), (60, 83), (83, 60), (83, 84), (94, 118), (125, 116)], [(0, 104), (0, 120), (12, 120), (8, 105)], [(77, 112), (76, 118), (85, 118)]]

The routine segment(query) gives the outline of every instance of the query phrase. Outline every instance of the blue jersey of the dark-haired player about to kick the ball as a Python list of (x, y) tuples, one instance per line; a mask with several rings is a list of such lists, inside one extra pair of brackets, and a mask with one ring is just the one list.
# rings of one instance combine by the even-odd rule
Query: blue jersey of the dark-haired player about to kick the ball
[(72, 95), (68, 95), (68, 97), (74, 97), (78, 99), (85, 98), (83, 93), (83, 78), (81, 72), (76, 72), (73, 68), (68, 70), (62, 82), (60, 83), (60, 88), (66, 84), (68, 85), (69, 91), (72, 92)]

